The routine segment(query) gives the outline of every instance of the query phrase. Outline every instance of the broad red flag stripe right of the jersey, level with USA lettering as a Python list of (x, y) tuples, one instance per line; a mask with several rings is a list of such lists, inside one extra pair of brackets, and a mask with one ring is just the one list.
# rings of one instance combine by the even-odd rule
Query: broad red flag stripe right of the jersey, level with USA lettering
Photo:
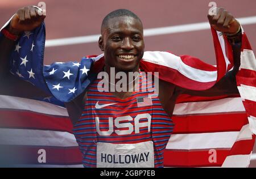
[(174, 134), (240, 131), (248, 123), (245, 113), (173, 116)]

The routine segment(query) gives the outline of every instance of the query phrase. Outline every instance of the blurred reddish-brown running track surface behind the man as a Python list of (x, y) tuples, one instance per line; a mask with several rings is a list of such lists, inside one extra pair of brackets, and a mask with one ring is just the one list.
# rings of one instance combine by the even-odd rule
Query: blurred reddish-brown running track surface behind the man
[[(28, 5), (37, 5), (35, 0), (1, 0), (0, 25), (2, 26), (18, 8)], [(61, 45), (60, 39), (68, 37), (98, 35), (101, 20), (110, 11), (117, 8), (127, 8), (137, 14), (144, 25), (144, 29), (152, 29), (153, 35), (144, 38), (146, 50), (168, 50), (177, 55), (189, 54), (203, 59), (205, 62), (215, 64), (212, 37), (208, 29), (197, 29), (187, 32), (166, 32), (164, 35), (154, 35), (159, 27), (172, 27), (176, 25), (195, 24), (207, 22), (208, 3), (205, 0), (76, 0), (76, 1), (50, 1), (46, 2), (47, 18), (47, 48), (45, 63), (55, 61), (80, 61), (88, 54), (101, 54), (96, 39), (93, 42), (82, 44)], [(215, 0), (218, 7), (224, 7), (236, 17), (249, 19), (249, 24), (243, 25), (251, 46), (256, 48), (256, 1), (253, 0)], [(54, 40), (54, 41), (52, 41)], [(71, 39), (73, 42), (74, 40)], [(49, 46), (56, 42), (57, 46)], [(76, 41), (75, 41), (76, 42)], [(256, 147), (254, 147), (256, 153)], [(250, 167), (256, 167), (256, 157), (251, 161)]]

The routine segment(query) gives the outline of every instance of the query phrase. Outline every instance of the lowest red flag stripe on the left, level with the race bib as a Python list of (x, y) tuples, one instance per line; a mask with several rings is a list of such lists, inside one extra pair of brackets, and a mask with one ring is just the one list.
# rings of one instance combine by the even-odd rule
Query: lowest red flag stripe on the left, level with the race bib
[[(49, 146), (1, 146), (5, 155), (15, 164), (81, 164), (82, 154), (79, 147), (49, 147)], [(39, 163), (41, 152), (45, 150), (46, 163)], [(38, 154), (39, 152), (39, 154)]]

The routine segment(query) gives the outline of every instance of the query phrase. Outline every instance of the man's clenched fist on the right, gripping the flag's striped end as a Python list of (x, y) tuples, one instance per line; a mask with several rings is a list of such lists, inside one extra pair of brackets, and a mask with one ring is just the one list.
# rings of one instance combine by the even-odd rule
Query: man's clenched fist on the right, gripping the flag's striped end
[(240, 24), (234, 16), (224, 8), (217, 8), (216, 15), (208, 14), (208, 19), (210, 25), (219, 32), (233, 34), (240, 29)]

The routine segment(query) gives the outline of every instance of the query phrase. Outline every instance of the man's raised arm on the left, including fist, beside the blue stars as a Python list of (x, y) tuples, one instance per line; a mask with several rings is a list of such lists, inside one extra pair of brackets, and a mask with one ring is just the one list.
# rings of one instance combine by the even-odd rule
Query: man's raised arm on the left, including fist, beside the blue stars
[(0, 38), (0, 94), (20, 97), (46, 96), (32, 84), (10, 74), (10, 55), (16, 48), (16, 40), (24, 31), (38, 27), (46, 16), (38, 14), (38, 8), (28, 6), (20, 8), (11, 22), (2, 30)]

